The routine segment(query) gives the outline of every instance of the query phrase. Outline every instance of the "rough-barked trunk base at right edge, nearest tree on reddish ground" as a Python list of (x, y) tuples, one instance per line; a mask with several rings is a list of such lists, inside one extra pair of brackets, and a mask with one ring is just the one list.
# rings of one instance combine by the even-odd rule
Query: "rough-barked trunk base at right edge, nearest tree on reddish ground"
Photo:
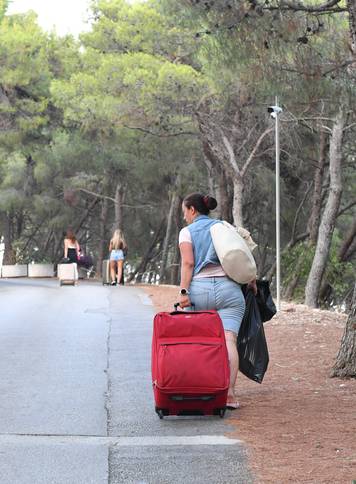
[(331, 372), (332, 377), (356, 377), (356, 283), (351, 302), (351, 311), (346, 322), (339, 353)]

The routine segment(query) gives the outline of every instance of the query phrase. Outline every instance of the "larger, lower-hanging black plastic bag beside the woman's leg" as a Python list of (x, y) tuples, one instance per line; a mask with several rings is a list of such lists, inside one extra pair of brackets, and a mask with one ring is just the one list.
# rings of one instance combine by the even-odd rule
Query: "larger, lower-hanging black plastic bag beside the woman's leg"
[(262, 383), (269, 355), (257, 299), (251, 290), (245, 296), (246, 310), (237, 338), (239, 370), (250, 380)]

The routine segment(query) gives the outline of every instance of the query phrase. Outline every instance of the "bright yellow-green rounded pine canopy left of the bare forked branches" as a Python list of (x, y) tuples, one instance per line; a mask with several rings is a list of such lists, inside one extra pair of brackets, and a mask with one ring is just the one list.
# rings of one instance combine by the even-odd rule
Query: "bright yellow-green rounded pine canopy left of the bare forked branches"
[(150, 126), (162, 111), (184, 112), (206, 86), (191, 67), (161, 57), (130, 53), (99, 59), (92, 72), (75, 74), (69, 82), (54, 81), (51, 91), (69, 125), (99, 129), (105, 136), (115, 126)]

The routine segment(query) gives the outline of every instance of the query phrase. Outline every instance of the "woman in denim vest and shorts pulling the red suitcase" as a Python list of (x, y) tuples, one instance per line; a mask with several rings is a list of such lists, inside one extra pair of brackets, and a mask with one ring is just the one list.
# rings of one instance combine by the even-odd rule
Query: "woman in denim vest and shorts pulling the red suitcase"
[[(183, 200), (182, 210), (188, 227), (179, 234), (179, 249), (182, 259), (180, 306), (194, 309), (215, 309), (219, 313), (225, 330), (226, 346), (230, 363), (230, 385), (227, 407), (239, 407), (235, 395), (238, 372), (237, 337), (245, 312), (245, 299), (237, 282), (228, 278), (220, 265), (210, 235), (210, 227), (221, 220), (209, 217), (217, 207), (215, 198), (192, 193)], [(251, 286), (255, 290), (255, 281)]]

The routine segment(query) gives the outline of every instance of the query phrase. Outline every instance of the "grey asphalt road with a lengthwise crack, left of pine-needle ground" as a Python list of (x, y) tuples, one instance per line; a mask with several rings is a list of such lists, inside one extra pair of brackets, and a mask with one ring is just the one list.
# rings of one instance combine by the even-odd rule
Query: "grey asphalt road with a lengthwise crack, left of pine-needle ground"
[(139, 288), (0, 279), (1, 484), (248, 484), (229, 413), (159, 420)]

